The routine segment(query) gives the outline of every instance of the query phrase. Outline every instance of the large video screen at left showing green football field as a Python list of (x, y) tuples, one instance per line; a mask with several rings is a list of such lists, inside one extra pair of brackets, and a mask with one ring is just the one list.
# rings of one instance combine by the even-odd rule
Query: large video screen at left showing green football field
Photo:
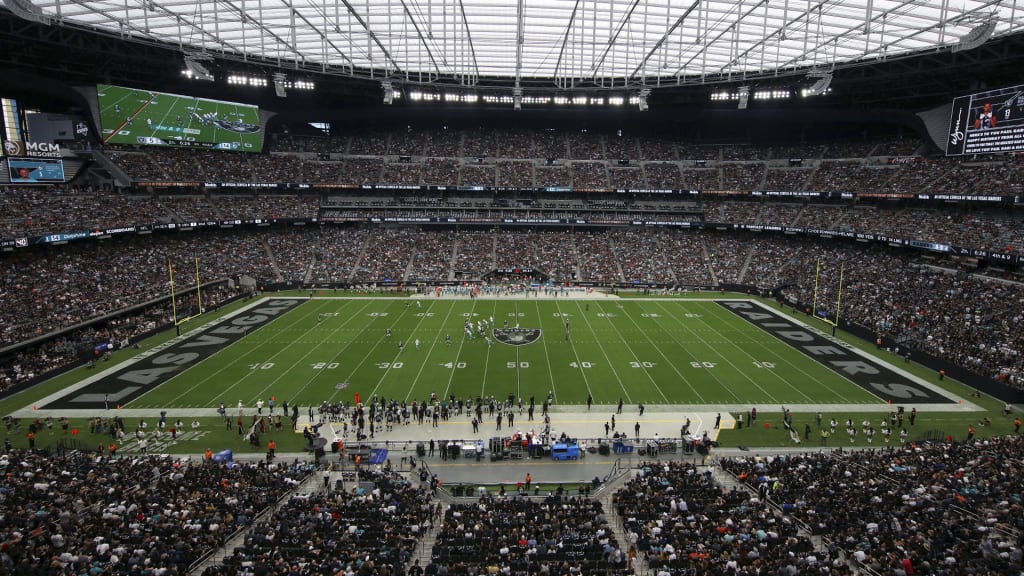
[(98, 84), (103, 143), (261, 152), (259, 108)]

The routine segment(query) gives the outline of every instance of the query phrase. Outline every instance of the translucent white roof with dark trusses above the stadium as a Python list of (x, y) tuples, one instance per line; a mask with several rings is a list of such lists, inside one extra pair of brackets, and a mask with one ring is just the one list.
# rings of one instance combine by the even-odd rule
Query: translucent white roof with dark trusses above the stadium
[(1024, 28), (1019, 0), (31, 2), (56, 25), (201, 56), (468, 86), (658, 87), (824, 72)]

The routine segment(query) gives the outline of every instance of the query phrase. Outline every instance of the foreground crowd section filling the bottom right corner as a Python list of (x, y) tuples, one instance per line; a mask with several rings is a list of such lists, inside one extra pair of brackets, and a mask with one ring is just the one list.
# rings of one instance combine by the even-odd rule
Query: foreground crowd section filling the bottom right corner
[(1016, 574), (1022, 456), (1014, 436), (721, 463), (873, 573)]

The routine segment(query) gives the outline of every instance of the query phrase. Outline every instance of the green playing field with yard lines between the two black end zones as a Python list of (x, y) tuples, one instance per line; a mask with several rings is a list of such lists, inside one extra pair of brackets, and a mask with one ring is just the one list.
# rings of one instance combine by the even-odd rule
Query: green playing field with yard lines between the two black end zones
[[(492, 319), (499, 331), (508, 323), (512, 337), (537, 339), (502, 343), (493, 329), (467, 337), (467, 321), (477, 332), (475, 323)], [(884, 404), (713, 301), (316, 298), (125, 407), (251, 406), (270, 397), (311, 405), (356, 394), (541, 403), (549, 393), (556, 405), (588, 395), (595, 404)]]

